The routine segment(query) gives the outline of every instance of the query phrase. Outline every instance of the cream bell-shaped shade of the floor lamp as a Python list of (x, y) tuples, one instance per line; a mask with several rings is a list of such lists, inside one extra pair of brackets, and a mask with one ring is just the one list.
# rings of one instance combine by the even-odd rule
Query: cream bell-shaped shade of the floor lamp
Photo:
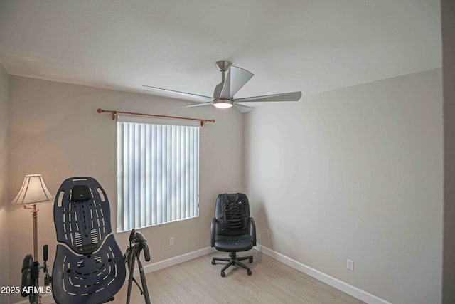
[(45, 186), (41, 174), (29, 174), (23, 179), (21, 190), (11, 204), (33, 204), (53, 199), (48, 187)]

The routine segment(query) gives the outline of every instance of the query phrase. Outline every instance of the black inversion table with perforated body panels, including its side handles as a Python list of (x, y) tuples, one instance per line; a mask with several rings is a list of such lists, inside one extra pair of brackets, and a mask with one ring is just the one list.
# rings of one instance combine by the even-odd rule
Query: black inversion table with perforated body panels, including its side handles
[[(45, 273), (45, 286), (52, 283), (56, 303), (95, 304), (114, 300), (129, 273), (127, 304), (134, 281), (146, 304), (150, 304), (144, 268), (139, 260), (144, 251), (146, 261), (150, 252), (144, 235), (132, 230), (129, 246), (122, 255), (117, 245), (110, 221), (109, 201), (105, 190), (92, 177), (66, 179), (54, 201), (54, 224), (57, 233), (57, 250), (52, 277), (48, 273), (48, 246), (43, 246), (43, 265), (33, 261), (28, 254), (22, 263), (21, 295), (28, 296), (31, 304), (40, 302), (38, 290), (39, 271)], [(134, 279), (137, 261), (142, 287)], [(29, 291), (30, 290), (30, 291)]]

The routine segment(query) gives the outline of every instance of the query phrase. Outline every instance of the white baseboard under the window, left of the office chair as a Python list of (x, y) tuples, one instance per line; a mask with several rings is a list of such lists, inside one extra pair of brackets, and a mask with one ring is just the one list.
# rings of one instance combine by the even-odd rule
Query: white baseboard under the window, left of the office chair
[[(179, 263), (183, 263), (186, 261), (193, 260), (193, 258), (198, 258), (200, 256), (205, 256), (209, 253), (212, 253), (215, 251), (215, 248), (211, 247), (205, 247), (196, 251), (188, 252), (181, 254), (180, 256), (174, 256), (173, 258), (168, 258), (164, 261), (159, 261), (156, 263), (151, 263), (149, 265), (144, 266), (144, 273), (151, 273), (154, 271), (159, 271), (160, 269), (169, 267), (169, 266), (174, 266)], [(139, 268), (134, 268), (134, 273), (139, 276)], [(127, 271), (127, 278), (128, 278), (128, 271)], [(126, 282), (126, 281), (125, 281)], [(43, 304), (49, 304), (49, 303), (54, 303), (54, 299), (52, 297), (52, 294), (48, 295), (42, 295), (41, 302)], [(19, 302), (16, 302), (14, 304), (27, 304), (28, 303), (28, 298), (26, 300), (22, 300)]]

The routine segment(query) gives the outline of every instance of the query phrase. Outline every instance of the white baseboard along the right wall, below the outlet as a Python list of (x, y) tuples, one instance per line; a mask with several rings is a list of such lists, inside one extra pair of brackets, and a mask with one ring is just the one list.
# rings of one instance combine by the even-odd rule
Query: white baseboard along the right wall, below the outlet
[(343, 293), (347, 293), (348, 295), (352, 295), (353, 297), (358, 298), (359, 300), (363, 300), (363, 302), (366, 302), (369, 304), (392, 304), (382, 298), (372, 295), (371, 293), (367, 293), (366, 291), (361, 290), (353, 285), (349, 285), (348, 283), (340, 281), (340, 280), (338, 280), (338, 278), (333, 278), (332, 276), (328, 276), (328, 274), (326, 274), (326, 273), (323, 273), (314, 268), (311, 268), (310, 266), (307, 266), (304, 263), (300, 263), (299, 261), (296, 261), (293, 258), (284, 256), (282, 253), (273, 251), (272, 249), (267, 248), (266, 246), (257, 244), (256, 250), (266, 254), (267, 256), (270, 256), (271, 258), (274, 258), (277, 261), (280, 261), (280, 262), (286, 264), (287, 266), (290, 266), (313, 278), (316, 278), (316, 280), (319, 280), (323, 283), (331, 285), (332, 287), (343, 291)]

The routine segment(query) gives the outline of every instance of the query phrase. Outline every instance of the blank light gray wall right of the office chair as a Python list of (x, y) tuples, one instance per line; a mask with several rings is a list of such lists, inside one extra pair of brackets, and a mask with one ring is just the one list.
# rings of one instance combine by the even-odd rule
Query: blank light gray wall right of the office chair
[(442, 124), (441, 69), (248, 113), (259, 243), (392, 303), (440, 303)]

